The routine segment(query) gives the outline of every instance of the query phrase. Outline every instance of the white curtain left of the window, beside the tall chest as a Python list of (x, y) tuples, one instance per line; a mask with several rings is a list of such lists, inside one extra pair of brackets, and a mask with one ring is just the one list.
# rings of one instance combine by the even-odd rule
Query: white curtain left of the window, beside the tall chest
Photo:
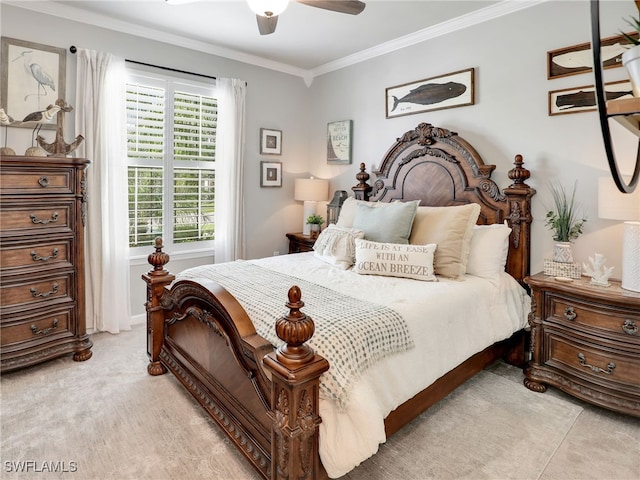
[(78, 49), (76, 131), (91, 160), (85, 263), (87, 327), (118, 333), (131, 325), (124, 59)]

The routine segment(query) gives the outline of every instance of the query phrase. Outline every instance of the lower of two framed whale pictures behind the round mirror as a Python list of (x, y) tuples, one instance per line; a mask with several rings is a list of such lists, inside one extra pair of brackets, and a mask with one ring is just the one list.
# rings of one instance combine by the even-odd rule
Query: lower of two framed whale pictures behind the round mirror
[[(629, 80), (620, 80), (604, 84), (607, 100), (632, 98), (633, 91)], [(590, 112), (596, 110), (595, 86), (585, 85), (575, 88), (564, 88), (549, 92), (549, 115), (565, 113)]]

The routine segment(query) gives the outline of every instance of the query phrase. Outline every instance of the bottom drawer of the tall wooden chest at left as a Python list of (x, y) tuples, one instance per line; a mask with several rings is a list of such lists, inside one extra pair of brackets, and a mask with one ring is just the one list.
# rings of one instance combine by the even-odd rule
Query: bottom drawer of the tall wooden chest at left
[(2, 325), (0, 345), (3, 350), (25, 342), (43, 342), (70, 331), (73, 307), (44, 315), (8, 319)]

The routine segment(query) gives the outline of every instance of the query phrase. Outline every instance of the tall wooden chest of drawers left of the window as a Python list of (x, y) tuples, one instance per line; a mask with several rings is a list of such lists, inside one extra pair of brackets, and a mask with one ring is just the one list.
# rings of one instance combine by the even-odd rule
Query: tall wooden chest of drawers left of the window
[(0, 369), (73, 353), (91, 358), (86, 333), (80, 158), (0, 158)]

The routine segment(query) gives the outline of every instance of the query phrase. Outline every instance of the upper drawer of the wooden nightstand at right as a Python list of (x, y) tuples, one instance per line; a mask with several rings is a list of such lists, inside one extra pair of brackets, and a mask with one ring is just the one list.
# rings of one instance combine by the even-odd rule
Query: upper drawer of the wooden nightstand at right
[(551, 295), (546, 321), (640, 345), (640, 312)]

